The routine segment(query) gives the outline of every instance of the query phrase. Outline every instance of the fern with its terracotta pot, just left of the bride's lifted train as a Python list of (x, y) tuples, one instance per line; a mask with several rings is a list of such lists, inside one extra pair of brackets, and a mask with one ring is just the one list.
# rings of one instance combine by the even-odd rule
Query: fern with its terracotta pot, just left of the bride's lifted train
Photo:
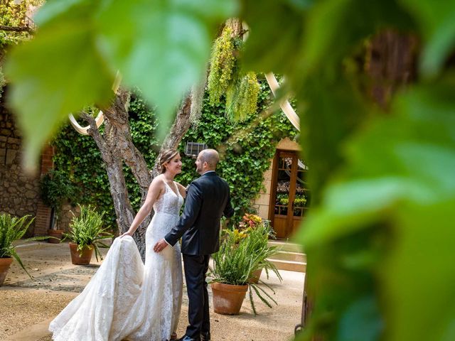
[(93, 251), (98, 261), (98, 256), (102, 259), (98, 247), (108, 247), (102, 239), (114, 237), (110, 234), (108, 227), (103, 227), (103, 213), (98, 213), (95, 207), (90, 205), (79, 205), (80, 215), (78, 217), (73, 213), (73, 220), (70, 222), (70, 232), (64, 233), (64, 239), (70, 239), (71, 261), (73, 264), (86, 265), (90, 264)]

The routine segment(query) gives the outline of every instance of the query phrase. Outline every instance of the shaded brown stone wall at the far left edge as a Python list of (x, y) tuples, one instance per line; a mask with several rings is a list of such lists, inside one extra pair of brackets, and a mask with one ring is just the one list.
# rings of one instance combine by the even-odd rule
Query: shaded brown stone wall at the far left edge
[[(38, 188), (39, 176), (25, 174), (22, 170), (21, 134), (14, 117), (0, 102), (0, 212), (35, 217)], [(33, 229), (34, 224), (29, 235), (33, 234)]]

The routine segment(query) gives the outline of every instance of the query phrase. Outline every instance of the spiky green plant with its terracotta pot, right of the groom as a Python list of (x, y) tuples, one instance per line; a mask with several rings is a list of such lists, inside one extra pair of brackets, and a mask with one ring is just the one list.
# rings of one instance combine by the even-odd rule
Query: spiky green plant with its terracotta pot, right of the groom
[[(262, 286), (251, 283), (250, 278), (254, 271), (264, 267), (272, 270), (282, 279), (277, 268), (267, 260), (277, 252), (276, 247), (269, 247), (262, 239), (267, 241), (268, 234), (264, 233), (266, 227), (261, 225), (252, 229), (245, 237), (237, 239), (234, 233), (229, 233), (223, 239), (220, 250), (213, 255), (213, 269), (210, 271), (211, 288), (213, 293), (213, 310), (224, 315), (238, 315), (245, 295), (250, 288), (250, 303), (253, 313), (257, 314), (253, 293), (269, 308), (277, 302)], [(268, 272), (267, 272), (268, 276)], [(273, 289), (261, 281), (272, 293)]]

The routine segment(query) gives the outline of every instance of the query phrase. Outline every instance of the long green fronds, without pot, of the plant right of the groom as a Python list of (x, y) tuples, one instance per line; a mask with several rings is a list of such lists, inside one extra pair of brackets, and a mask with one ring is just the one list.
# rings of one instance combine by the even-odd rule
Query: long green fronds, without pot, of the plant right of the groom
[[(275, 304), (277, 304), (277, 301), (264, 288), (255, 283), (250, 283), (252, 273), (263, 268), (267, 273), (267, 278), (269, 277), (269, 271), (273, 271), (279, 280), (282, 280), (277, 267), (268, 260), (270, 256), (278, 251), (277, 247), (268, 245), (268, 237), (269, 228), (265, 225), (252, 229), (240, 241), (235, 234), (229, 233), (220, 245), (220, 250), (213, 254), (213, 269), (210, 271), (210, 277), (213, 282), (237, 286), (247, 284), (250, 288), (250, 303), (255, 315), (257, 311), (253, 300), (253, 292), (269, 308), (272, 308), (269, 300)], [(261, 283), (269, 288), (272, 293), (275, 293), (273, 288), (267, 283), (263, 281)]]

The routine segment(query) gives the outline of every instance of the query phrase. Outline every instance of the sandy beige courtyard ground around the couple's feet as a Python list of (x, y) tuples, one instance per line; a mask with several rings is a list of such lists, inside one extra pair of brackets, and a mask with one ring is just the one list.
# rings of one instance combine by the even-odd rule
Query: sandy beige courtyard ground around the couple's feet
[[(51, 340), (47, 330), (50, 320), (82, 291), (100, 263), (96, 262), (94, 256), (89, 266), (71, 264), (68, 244), (33, 243), (19, 247), (18, 253), (34, 281), (14, 261), (4, 286), (0, 287), (0, 340)], [(291, 340), (294, 325), (300, 320), (304, 274), (292, 271), (280, 273), (282, 283), (279, 283), (276, 276), (271, 276), (267, 281), (276, 291), (278, 305), (274, 308), (267, 308), (257, 299), (259, 315), (255, 316), (250, 302), (245, 299), (240, 315), (218, 315), (212, 310), (210, 319), (213, 340)], [(211, 296), (210, 289), (209, 295)], [(179, 336), (185, 331), (187, 313), (185, 291), (178, 326)]]

